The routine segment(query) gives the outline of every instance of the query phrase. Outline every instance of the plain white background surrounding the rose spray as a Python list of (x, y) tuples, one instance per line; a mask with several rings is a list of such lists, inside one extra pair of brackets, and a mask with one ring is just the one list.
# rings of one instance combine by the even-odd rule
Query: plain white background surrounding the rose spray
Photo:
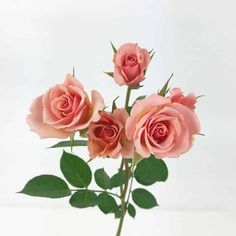
[[(155, 92), (173, 72), (172, 86), (204, 94), (197, 113), (205, 137), (179, 159), (168, 159), (169, 179), (151, 186), (160, 207), (127, 217), (125, 235), (236, 235), (235, 1), (9, 0), (0, 1), (0, 235), (114, 235), (112, 216), (73, 209), (68, 199), (15, 194), (31, 177), (61, 175), (57, 140), (40, 140), (25, 117), (34, 97), (61, 83), (75, 67), (107, 105), (125, 88), (103, 74), (112, 50), (125, 42), (154, 49), (144, 87)], [(122, 105), (122, 98), (118, 101)], [(85, 148), (76, 153), (88, 158)], [(95, 160), (111, 174), (119, 163)]]

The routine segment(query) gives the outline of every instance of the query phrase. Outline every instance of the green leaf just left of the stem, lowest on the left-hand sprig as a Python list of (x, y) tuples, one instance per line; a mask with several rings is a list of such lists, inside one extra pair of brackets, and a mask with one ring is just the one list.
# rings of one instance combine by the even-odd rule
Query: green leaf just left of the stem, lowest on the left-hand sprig
[(104, 214), (115, 213), (119, 208), (115, 199), (108, 193), (98, 195), (98, 207)]

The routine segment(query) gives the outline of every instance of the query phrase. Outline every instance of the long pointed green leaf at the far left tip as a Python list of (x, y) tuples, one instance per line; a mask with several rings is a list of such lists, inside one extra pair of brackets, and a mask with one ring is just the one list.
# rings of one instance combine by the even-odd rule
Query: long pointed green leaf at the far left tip
[(67, 183), (54, 175), (40, 175), (34, 177), (19, 193), (47, 198), (61, 198), (71, 195)]

